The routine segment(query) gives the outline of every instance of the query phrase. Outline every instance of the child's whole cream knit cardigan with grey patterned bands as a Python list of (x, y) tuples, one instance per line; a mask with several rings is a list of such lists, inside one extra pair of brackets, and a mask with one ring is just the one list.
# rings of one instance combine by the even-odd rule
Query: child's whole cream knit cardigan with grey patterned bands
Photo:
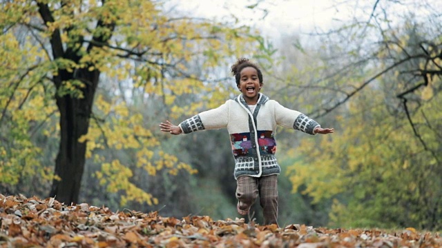
[(307, 134), (314, 134), (313, 130), (320, 126), (305, 114), (289, 110), (261, 93), (253, 113), (240, 94), (220, 107), (201, 112), (180, 123), (184, 134), (227, 127), (235, 158), (233, 176), (236, 179), (239, 176), (280, 174), (280, 166), (275, 157), (276, 125)]

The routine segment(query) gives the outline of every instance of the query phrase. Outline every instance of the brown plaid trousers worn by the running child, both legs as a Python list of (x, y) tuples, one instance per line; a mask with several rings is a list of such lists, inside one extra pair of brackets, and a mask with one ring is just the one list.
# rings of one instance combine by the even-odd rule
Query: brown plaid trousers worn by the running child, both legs
[(278, 175), (261, 176), (259, 178), (240, 176), (236, 183), (238, 213), (247, 214), (259, 195), (264, 225), (278, 225)]

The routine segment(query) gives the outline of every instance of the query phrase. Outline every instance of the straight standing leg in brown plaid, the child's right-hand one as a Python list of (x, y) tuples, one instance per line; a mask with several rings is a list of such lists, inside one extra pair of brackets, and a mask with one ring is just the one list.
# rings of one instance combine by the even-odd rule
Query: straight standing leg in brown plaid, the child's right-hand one
[(262, 176), (258, 187), (264, 225), (278, 225), (278, 176)]

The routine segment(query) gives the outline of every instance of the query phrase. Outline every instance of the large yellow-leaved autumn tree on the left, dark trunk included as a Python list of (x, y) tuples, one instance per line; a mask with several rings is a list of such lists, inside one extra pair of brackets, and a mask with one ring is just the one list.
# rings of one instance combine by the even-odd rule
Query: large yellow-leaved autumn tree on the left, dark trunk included
[[(0, 180), (10, 191), (24, 180), (52, 180), (49, 196), (65, 202), (79, 202), (86, 163), (101, 167), (92, 173), (100, 187), (124, 194), (121, 205), (157, 201), (134, 183), (137, 169), (194, 173), (159, 151), (137, 107), (196, 112), (203, 101), (177, 107), (179, 96), (207, 91), (216, 104), (220, 85), (202, 83), (209, 70), (258, 45), (251, 28), (186, 17), (161, 1), (2, 1), (1, 8)], [(118, 91), (106, 89), (113, 82)], [(36, 136), (58, 145), (41, 149)]]

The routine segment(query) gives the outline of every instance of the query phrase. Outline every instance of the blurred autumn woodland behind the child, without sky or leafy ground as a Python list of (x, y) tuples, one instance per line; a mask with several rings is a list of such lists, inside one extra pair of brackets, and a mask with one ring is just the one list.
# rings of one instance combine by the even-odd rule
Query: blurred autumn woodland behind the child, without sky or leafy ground
[(440, 3), (336, 1), (331, 30), (270, 41), (166, 2), (0, 1), (1, 194), (238, 216), (227, 131), (158, 124), (238, 95), (244, 56), (262, 93), (335, 128), (278, 128), (281, 226), (442, 228)]

